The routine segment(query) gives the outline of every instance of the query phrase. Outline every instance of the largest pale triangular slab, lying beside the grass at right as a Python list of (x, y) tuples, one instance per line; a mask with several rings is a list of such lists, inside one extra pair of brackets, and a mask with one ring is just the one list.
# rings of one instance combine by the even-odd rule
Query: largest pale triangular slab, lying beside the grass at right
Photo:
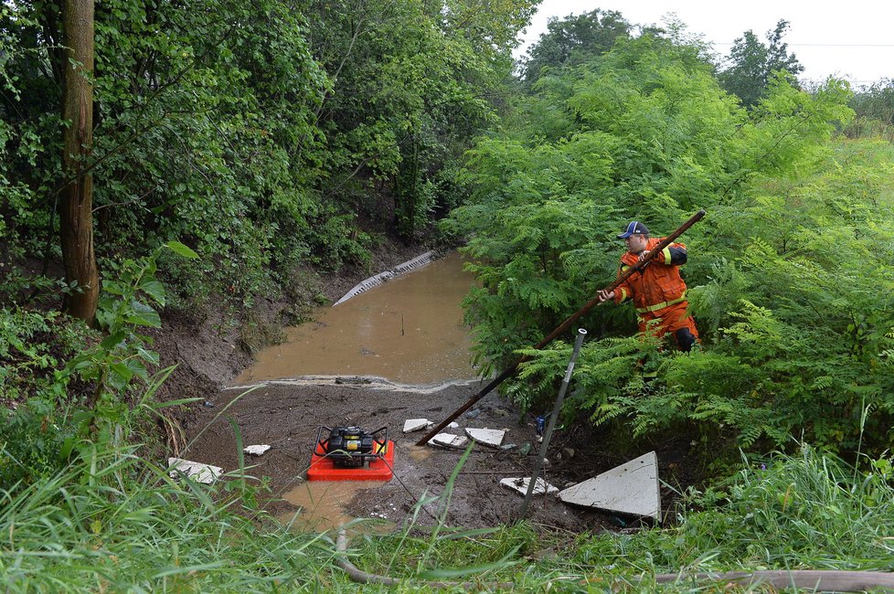
[(575, 484), (561, 491), (559, 499), (566, 504), (658, 520), (661, 515), (661, 493), (658, 490), (655, 451)]

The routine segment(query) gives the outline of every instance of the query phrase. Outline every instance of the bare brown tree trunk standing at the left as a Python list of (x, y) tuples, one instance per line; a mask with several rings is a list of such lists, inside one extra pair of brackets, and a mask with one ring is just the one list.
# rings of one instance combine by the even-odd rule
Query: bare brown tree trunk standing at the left
[(77, 281), (65, 309), (89, 324), (100, 294), (93, 253), (93, 175), (81, 173), (93, 146), (93, 0), (65, 0), (63, 38), (67, 63), (62, 117), (69, 127), (62, 175), (69, 183), (62, 191), (59, 227), (65, 277), (69, 283)]

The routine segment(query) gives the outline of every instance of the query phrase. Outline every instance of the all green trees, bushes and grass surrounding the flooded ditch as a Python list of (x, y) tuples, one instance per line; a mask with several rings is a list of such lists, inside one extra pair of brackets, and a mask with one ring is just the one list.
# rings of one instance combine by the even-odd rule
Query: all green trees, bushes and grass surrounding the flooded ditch
[[(718, 63), (683, 24), (601, 11), (553, 23), (514, 70), (535, 5), (113, 0), (95, 6), (92, 69), (66, 53), (59, 4), (0, 7), (10, 589), (356, 589), (333, 538), (274, 524), (250, 470), (208, 488), (147, 461), (166, 458), (159, 434), (176, 450), (171, 410), (190, 403), (154, 398), (172, 368), (150, 332), (173, 313), (294, 300), (298, 270), (362, 268), (440, 220), (480, 282), (466, 299), (478, 362), (530, 355), (504, 393), (539, 412), (570, 345), (527, 347), (613, 280), (614, 236), (633, 219), (664, 234), (699, 208), (682, 240), (701, 344), (676, 354), (602, 305), (580, 322), (591, 338), (564, 411), (618, 443), (691, 436), (711, 482), (680, 493), (676, 521), (599, 536), (405, 526), (355, 538), (355, 563), (561, 591), (892, 570), (891, 84), (802, 89), (784, 21)], [(92, 105), (75, 158), (71, 72)], [(72, 217), (89, 245), (65, 239)], [(72, 257), (95, 258), (101, 292)]]

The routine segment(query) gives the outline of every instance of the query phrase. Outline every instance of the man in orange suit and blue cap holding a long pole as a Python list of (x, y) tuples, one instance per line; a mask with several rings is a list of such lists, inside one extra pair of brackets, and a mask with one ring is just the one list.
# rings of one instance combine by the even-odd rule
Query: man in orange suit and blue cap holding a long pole
[[(637, 261), (644, 260), (663, 238), (649, 239), (649, 229), (643, 223), (633, 221), (618, 239), (627, 244), (618, 271), (621, 274)], [(688, 353), (698, 339), (698, 330), (695, 320), (686, 313), (686, 282), (680, 277), (679, 270), (685, 263), (686, 246), (672, 243), (614, 291), (600, 291), (599, 301), (613, 299), (620, 303), (631, 298), (641, 333), (649, 332), (657, 338), (672, 334), (679, 349)], [(656, 322), (649, 324), (653, 320)]]

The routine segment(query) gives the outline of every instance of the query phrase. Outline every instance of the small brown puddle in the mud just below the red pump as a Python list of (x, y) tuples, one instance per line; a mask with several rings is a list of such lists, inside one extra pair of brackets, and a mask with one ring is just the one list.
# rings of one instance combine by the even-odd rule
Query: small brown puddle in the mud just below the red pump
[(357, 522), (357, 518), (345, 511), (357, 492), (383, 484), (378, 481), (305, 481), (283, 495), (283, 499), (301, 508), (297, 515), (296, 512), (286, 512), (279, 514), (277, 520), (299, 532), (325, 532), (356, 522), (348, 526), (347, 532), (386, 534), (396, 528), (394, 523), (376, 518), (370, 518), (375, 522)]

